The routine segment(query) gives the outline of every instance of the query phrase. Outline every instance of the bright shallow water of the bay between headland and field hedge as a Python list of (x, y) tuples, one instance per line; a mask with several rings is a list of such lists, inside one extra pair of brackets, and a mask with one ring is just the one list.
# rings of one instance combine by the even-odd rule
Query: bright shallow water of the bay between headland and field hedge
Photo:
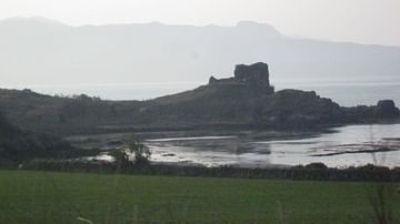
[[(298, 165), (323, 162), (347, 167), (368, 163), (400, 166), (400, 124), (350, 125), (332, 133), (273, 140), (259, 132), (224, 136), (168, 138), (147, 140), (152, 160), (199, 163), (208, 166)], [(279, 138), (278, 138), (279, 139)], [(364, 152), (389, 149), (390, 152)]]

